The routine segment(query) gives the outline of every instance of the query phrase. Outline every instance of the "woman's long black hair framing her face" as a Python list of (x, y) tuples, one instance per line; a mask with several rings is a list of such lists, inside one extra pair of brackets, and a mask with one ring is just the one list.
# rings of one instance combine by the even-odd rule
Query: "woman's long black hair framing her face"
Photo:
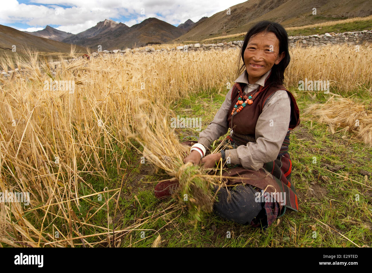
[(258, 22), (256, 25), (252, 26), (248, 30), (246, 36), (244, 37), (244, 41), (241, 45), (240, 55), (241, 55), (241, 59), (243, 60), (243, 65), (240, 68), (238, 67), (237, 77), (240, 76), (240, 74), (243, 73), (245, 69), (244, 51), (247, 48), (248, 41), (251, 38), (251, 36), (259, 32), (273, 32), (276, 38), (279, 39), (279, 54), (282, 52), (285, 53), (285, 56), (280, 61), (280, 63), (273, 65), (271, 69), (270, 77), (268, 79), (272, 85), (281, 85), (283, 84), (283, 81), (284, 81), (284, 71), (289, 64), (289, 61), (291, 60), (291, 57), (289, 56), (289, 49), (288, 49), (288, 44), (289, 44), (288, 34), (282, 25), (280, 25), (279, 23), (270, 22), (270, 21)]

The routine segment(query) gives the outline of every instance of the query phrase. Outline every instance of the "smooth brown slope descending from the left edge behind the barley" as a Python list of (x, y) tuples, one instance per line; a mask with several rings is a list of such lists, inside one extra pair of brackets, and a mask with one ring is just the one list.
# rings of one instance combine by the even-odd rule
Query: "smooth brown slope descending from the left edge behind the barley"
[[(31, 35), (23, 31), (0, 25), (0, 53), (12, 53), (15, 45), (16, 52), (29, 48), (41, 52), (70, 52), (71, 45), (51, 39)], [(76, 47), (76, 52), (86, 52), (83, 47)]]

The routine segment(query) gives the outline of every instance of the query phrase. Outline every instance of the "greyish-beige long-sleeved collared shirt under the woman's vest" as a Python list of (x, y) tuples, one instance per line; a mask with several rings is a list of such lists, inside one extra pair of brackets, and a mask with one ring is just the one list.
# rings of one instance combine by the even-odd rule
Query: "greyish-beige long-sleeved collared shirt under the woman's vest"
[[(247, 71), (234, 81), (246, 83), (243, 90), (244, 95), (257, 89), (259, 85), (264, 86), (270, 70), (264, 74), (256, 83), (248, 82)], [(231, 92), (227, 93), (225, 101), (222, 103), (213, 121), (207, 128), (199, 133), (198, 143), (209, 149), (211, 142), (218, 139), (228, 131), (227, 114), (231, 106)], [(235, 102), (234, 102), (235, 103)], [(289, 121), (291, 118), (291, 99), (285, 90), (278, 90), (272, 93), (265, 101), (262, 113), (256, 124), (256, 142), (248, 142), (247, 145), (240, 145), (237, 149), (225, 150), (226, 158), (230, 156), (231, 164), (240, 164), (243, 168), (257, 171), (266, 162), (276, 159), (280, 147), (288, 132)]]

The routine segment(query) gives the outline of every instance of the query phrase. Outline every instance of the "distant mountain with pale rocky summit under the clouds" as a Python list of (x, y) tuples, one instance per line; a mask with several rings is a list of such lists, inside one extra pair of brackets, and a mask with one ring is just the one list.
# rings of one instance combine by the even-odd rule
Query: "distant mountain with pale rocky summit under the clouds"
[(80, 32), (73, 36), (70, 36), (63, 40), (63, 42), (69, 44), (77, 44), (77, 45), (88, 45), (86, 40), (95, 36), (105, 35), (107, 33), (113, 32), (122, 32), (128, 29), (129, 26), (123, 23), (116, 23), (113, 20), (104, 20), (98, 22), (97, 25), (93, 26), (92, 28), (87, 29), (86, 31)]

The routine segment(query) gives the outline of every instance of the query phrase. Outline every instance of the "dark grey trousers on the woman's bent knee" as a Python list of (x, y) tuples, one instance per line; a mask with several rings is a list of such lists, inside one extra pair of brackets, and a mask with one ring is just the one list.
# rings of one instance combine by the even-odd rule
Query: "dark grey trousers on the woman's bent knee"
[[(263, 209), (264, 203), (255, 201), (257, 191), (251, 185), (237, 185), (221, 188), (218, 193), (218, 201), (213, 205), (213, 212), (229, 221), (249, 225)], [(216, 188), (217, 189), (217, 188)]]

